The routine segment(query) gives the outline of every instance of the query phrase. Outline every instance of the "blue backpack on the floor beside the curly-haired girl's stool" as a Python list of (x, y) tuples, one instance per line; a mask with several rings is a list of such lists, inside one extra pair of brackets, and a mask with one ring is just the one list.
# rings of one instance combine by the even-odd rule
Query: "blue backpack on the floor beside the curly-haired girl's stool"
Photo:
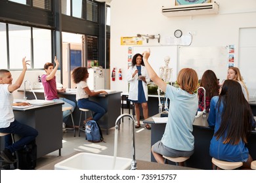
[(89, 120), (85, 125), (85, 140), (89, 142), (102, 142), (103, 136), (102, 131), (100, 129), (100, 125), (98, 125), (95, 120)]

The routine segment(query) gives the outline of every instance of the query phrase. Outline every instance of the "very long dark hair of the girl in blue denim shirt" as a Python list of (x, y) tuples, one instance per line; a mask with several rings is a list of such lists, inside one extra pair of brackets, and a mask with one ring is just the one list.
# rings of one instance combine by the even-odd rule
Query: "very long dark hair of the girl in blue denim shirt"
[(251, 107), (246, 101), (239, 82), (225, 80), (217, 103), (218, 108), (223, 103), (221, 114), (221, 126), (215, 133), (219, 140), (223, 137), (223, 143), (238, 144), (242, 139), (247, 143), (247, 135), (251, 131), (253, 120)]

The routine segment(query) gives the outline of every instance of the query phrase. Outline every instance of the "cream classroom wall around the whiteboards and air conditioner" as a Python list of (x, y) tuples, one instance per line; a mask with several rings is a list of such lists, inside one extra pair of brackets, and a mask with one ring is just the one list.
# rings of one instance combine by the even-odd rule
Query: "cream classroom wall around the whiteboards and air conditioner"
[[(241, 28), (256, 27), (256, 1), (219, 0), (219, 14), (198, 16), (166, 17), (161, 14), (161, 7), (175, 5), (174, 0), (112, 0), (111, 6), (111, 39), (110, 39), (110, 71), (114, 67), (123, 71), (123, 80), (110, 81), (111, 90), (128, 92), (126, 81), (127, 50), (130, 46), (121, 45), (121, 37), (136, 37), (138, 33), (145, 35), (161, 35), (157, 39), (143, 41), (142, 46), (167, 44), (167, 37), (173, 37), (176, 29), (184, 35), (193, 33), (190, 46), (227, 46), (234, 44), (234, 64), (238, 66), (239, 31)], [(172, 59), (172, 58), (171, 58)], [(159, 60), (164, 65), (163, 59)], [(211, 69), (211, 68), (209, 68)]]

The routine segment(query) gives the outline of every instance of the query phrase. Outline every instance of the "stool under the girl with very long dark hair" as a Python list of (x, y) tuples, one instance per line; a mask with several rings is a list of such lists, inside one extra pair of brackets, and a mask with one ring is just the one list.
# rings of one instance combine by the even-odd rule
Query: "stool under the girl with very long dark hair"
[(215, 170), (217, 170), (217, 167), (224, 169), (224, 170), (234, 170), (238, 169), (239, 167), (242, 167), (242, 162), (230, 162), (230, 161), (221, 161), (219, 159), (212, 158), (211, 162), (214, 165)]

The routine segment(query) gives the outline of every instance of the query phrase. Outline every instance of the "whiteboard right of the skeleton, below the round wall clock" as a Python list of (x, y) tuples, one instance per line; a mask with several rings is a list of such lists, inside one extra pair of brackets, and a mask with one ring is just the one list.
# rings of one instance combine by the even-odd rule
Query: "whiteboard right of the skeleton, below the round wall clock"
[(203, 73), (212, 70), (220, 82), (226, 79), (228, 72), (228, 47), (179, 47), (179, 66), (192, 68), (198, 73), (198, 78), (202, 78)]

